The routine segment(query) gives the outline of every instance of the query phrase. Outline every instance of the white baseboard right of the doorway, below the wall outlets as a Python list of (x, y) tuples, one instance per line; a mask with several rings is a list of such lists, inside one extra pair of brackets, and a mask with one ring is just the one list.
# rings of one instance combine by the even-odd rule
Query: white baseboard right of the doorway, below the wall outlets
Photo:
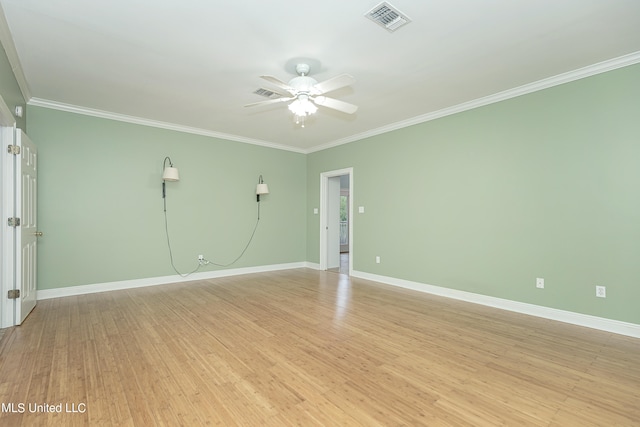
[(637, 325), (635, 323), (620, 322), (618, 320), (605, 319), (603, 317), (590, 316), (588, 314), (574, 313), (572, 311), (558, 310), (555, 308), (474, 294), (471, 292), (459, 291), (456, 289), (427, 285), (425, 283), (412, 282), (409, 280), (396, 279), (393, 277), (380, 276), (377, 274), (370, 274), (363, 271), (354, 270), (352, 276), (371, 280), (374, 282), (384, 283), (386, 285), (398, 286), (401, 288), (412, 289), (414, 291), (425, 292), (433, 295), (471, 302), (474, 304), (481, 304), (488, 307), (499, 308), (501, 310), (528, 314), (530, 316), (557, 320), (559, 322), (570, 323), (572, 325), (585, 326), (587, 328), (612, 332), (614, 334), (640, 338), (640, 325)]

